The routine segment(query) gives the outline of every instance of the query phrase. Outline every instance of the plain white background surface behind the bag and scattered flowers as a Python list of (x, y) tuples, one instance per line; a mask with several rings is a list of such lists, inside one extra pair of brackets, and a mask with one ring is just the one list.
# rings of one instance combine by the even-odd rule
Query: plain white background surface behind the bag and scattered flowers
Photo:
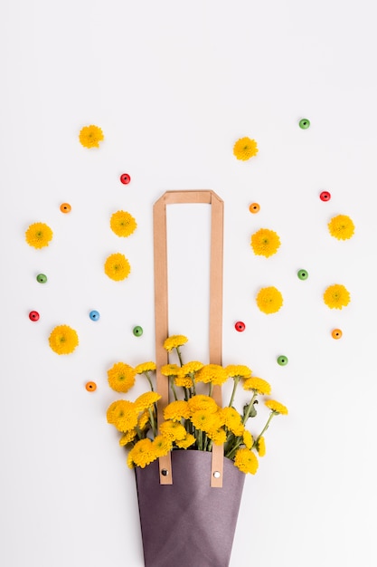
[[(248, 364), (289, 408), (246, 478), (231, 567), (376, 564), (374, 11), (370, 0), (2, 2), (2, 565), (143, 565), (107, 370), (154, 360), (153, 204), (199, 188), (225, 202), (223, 362)], [(99, 149), (80, 146), (89, 124), (104, 131)], [(259, 145), (247, 162), (232, 155), (243, 136)], [(170, 331), (189, 337), (186, 361), (207, 352), (203, 207), (169, 213)], [(108, 225), (119, 209), (137, 219), (127, 239)], [(351, 240), (329, 235), (338, 214), (353, 218)], [(42, 250), (24, 241), (38, 221), (53, 230)], [(269, 259), (250, 248), (260, 227), (281, 239)], [(124, 282), (103, 273), (113, 252), (132, 266)], [(351, 293), (342, 311), (322, 301), (332, 283)], [(255, 303), (265, 285), (284, 296), (274, 315)], [(79, 333), (69, 356), (48, 345), (58, 324)]]

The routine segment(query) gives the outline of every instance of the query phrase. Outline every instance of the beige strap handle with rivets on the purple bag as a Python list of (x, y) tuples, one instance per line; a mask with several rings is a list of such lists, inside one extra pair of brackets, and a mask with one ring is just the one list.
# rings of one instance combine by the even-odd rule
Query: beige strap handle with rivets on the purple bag
[[(166, 191), (154, 206), (154, 253), (155, 253), (155, 321), (156, 321), (156, 366), (157, 392), (161, 399), (157, 403), (157, 422), (164, 420), (163, 411), (169, 403), (169, 382), (160, 372), (168, 363), (168, 353), (163, 344), (168, 336), (167, 303), (167, 238), (166, 205), (179, 203), (208, 203), (211, 205), (211, 272), (210, 272), (210, 363), (221, 364), (222, 347), (222, 255), (223, 255), (223, 201), (211, 190)], [(222, 406), (221, 386), (214, 386), (212, 397)], [(172, 485), (171, 454), (159, 458), (160, 483)], [(211, 485), (221, 488), (223, 470), (223, 447), (212, 446)]]

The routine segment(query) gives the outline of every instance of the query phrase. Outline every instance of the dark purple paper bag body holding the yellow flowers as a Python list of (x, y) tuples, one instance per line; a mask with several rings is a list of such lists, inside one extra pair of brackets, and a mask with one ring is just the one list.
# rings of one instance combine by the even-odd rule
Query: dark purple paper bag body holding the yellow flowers
[(211, 457), (173, 451), (173, 485), (160, 485), (158, 461), (136, 467), (146, 567), (229, 566), (245, 475), (224, 458), (222, 488), (212, 488)]

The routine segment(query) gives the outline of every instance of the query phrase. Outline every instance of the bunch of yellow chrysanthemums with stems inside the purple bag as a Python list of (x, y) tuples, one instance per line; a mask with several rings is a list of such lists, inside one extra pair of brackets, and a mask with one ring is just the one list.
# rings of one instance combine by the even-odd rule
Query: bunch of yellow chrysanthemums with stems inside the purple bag
[[(287, 415), (287, 408), (275, 399), (265, 399), (269, 418), (258, 436), (253, 437), (246, 428), (249, 418), (256, 415), (258, 396), (269, 396), (269, 382), (252, 376), (249, 367), (231, 364), (203, 364), (198, 360), (182, 362), (180, 348), (187, 341), (184, 335), (168, 337), (165, 350), (175, 350), (180, 365), (165, 364), (161, 369), (169, 380), (174, 400), (164, 408), (164, 421), (157, 425), (156, 402), (161, 396), (154, 391), (151, 373), (156, 371), (155, 362), (144, 362), (133, 368), (118, 362), (108, 370), (108, 384), (115, 391), (125, 393), (131, 389), (137, 375), (144, 374), (150, 391), (141, 394), (135, 401), (118, 399), (108, 408), (108, 423), (122, 434), (119, 444), (129, 449), (127, 464), (145, 467), (160, 456), (178, 449), (211, 451), (212, 445), (223, 445), (224, 456), (230, 458), (243, 473), (255, 474), (258, 457), (265, 455), (264, 433), (276, 415)], [(233, 380), (233, 389), (228, 406), (221, 408), (212, 398), (212, 389), (226, 380)], [(233, 407), (236, 389), (251, 392), (251, 398), (242, 413)], [(208, 394), (199, 392), (200, 384), (208, 385)], [(205, 386), (204, 386), (205, 388)]]

